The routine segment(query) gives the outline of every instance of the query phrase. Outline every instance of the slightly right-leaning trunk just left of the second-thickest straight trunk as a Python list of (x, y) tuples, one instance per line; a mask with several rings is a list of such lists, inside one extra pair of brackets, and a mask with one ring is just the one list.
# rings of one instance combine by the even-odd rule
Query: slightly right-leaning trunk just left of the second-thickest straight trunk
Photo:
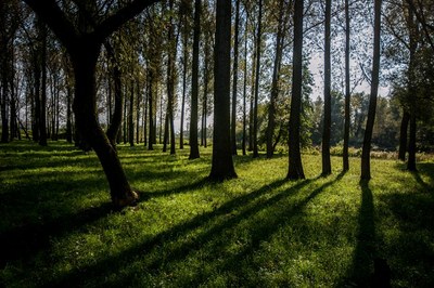
[(276, 55), (275, 55), (275, 67), (272, 69), (272, 82), (271, 82), (271, 95), (270, 105), (268, 107), (268, 126), (267, 126), (267, 158), (271, 158), (275, 153), (275, 146), (272, 144), (275, 138), (276, 127), (276, 101), (279, 95), (279, 75), (280, 75), (280, 63), (282, 60), (283, 50), (283, 1), (279, 2), (279, 25), (276, 37)]

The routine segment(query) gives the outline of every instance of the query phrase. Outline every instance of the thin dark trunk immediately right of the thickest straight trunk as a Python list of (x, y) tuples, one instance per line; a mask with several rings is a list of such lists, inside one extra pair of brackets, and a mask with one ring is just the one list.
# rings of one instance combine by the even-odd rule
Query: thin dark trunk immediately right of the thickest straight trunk
[(232, 119), (231, 119), (231, 148), (232, 155), (237, 155), (237, 92), (238, 92), (238, 44), (240, 26), (240, 0), (237, 0), (235, 9), (235, 35), (233, 40), (233, 80), (232, 80)]

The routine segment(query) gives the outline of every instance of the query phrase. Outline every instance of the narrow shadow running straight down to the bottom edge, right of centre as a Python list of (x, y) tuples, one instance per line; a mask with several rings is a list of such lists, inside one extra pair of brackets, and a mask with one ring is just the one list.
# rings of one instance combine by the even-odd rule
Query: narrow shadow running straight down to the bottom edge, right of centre
[[(361, 204), (358, 219), (358, 234), (353, 254), (353, 264), (344, 279), (344, 285), (369, 287), (375, 249), (375, 222), (372, 191), (368, 181), (360, 181)], [(344, 286), (343, 285), (343, 286)]]

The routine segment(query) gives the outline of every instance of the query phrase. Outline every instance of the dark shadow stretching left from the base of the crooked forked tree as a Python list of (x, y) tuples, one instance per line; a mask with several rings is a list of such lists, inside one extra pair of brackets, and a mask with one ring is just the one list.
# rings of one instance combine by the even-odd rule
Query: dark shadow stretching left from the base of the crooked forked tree
[(44, 223), (29, 223), (0, 234), (0, 269), (10, 261), (29, 261), (39, 251), (50, 247), (50, 238), (78, 230), (98, 221), (113, 209), (111, 204), (65, 214)]

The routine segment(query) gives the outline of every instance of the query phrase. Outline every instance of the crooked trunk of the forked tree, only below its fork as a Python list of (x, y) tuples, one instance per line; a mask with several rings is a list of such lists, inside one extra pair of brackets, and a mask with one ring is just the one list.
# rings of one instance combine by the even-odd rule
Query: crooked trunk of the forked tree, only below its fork
[[(97, 117), (95, 66), (100, 45), (78, 43), (72, 53), (75, 74), (74, 113), (77, 128), (95, 150), (108, 181), (112, 201), (116, 207), (131, 205), (138, 198), (131, 189), (115, 148), (101, 129)], [(86, 49), (86, 51), (84, 51)]]

